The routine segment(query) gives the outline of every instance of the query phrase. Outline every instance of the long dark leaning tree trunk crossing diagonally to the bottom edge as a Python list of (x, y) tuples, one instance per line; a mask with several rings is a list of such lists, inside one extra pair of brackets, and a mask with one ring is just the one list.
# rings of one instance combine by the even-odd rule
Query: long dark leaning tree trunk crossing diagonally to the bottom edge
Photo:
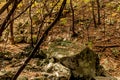
[(54, 25), (57, 23), (57, 21), (60, 19), (60, 16), (62, 14), (62, 11), (64, 9), (64, 6), (66, 4), (66, 0), (64, 0), (62, 2), (61, 8), (59, 10), (59, 13), (56, 17), (56, 19), (53, 21), (53, 23), (50, 24), (50, 26), (46, 29), (46, 31), (43, 33), (42, 37), (39, 39), (38, 43), (36, 44), (35, 48), (33, 49), (33, 51), (30, 53), (29, 57), (26, 59), (26, 61), (24, 62), (24, 64), (19, 68), (19, 70), (17, 71), (17, 73), (14, 75), (12, 80), (16, 80), (17, 77), (20, 75), (20, 73), (23, 71), (23, 69), (25, 68), (25, 66), (28, 64), (28, 62), (31, 60), (32, 56), (34, 56), (34, 54), (36, 53), (36, 51), (38, 50), (39, 46), (43, 43), (44, 39), (47, 37), (48, 32), (54, 27)]

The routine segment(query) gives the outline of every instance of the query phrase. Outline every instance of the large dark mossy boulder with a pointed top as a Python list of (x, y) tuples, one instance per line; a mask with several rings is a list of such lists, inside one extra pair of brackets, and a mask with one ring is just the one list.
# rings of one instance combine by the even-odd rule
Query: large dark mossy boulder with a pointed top
[(71, 70), (71, 80), (95, 80), (95, 76), (106, 75), (98, 55), (88, 47), (77, 55), (59, 59), (59, 62)]

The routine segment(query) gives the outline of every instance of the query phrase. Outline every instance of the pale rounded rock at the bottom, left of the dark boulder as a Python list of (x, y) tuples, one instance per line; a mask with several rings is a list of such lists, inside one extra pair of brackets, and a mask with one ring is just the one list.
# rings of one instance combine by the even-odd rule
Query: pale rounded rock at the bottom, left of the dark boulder
[(70, 70), (60, 63), (49, 63), (44, 67), (46, 73), (42, 73), (48, 80), (69, 80), (71, 73)]

